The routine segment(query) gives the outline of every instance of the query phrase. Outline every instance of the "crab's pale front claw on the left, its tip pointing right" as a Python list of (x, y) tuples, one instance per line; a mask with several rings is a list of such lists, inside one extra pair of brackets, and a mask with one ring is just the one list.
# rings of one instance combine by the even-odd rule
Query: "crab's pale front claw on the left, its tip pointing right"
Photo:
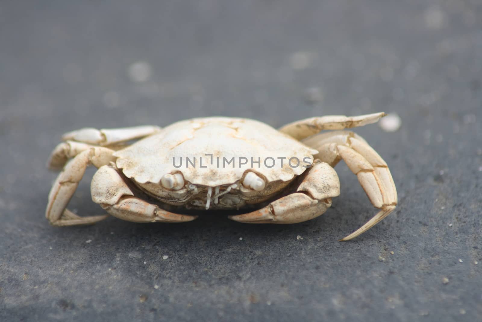
[(134, 196), (123, 175), (114, 167), (99, 168), (91, 183), (92, 200), (112, 216), (135, 223), (184, 223), (197, 218), (163, 210)]

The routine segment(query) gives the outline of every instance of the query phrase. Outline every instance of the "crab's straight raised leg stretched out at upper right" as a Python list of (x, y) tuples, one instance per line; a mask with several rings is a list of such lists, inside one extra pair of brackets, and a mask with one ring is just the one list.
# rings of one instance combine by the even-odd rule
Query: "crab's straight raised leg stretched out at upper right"
[(311, 135), (317, 134), (322, 130), (343, 130), (345, 128), (376, 123), (385, 115), (387, 114), (380, 112), (359, 116), (327, 115), (311, 117), (287, 124), (278, 130), (292, 136), (296, 140), (302, 140)]

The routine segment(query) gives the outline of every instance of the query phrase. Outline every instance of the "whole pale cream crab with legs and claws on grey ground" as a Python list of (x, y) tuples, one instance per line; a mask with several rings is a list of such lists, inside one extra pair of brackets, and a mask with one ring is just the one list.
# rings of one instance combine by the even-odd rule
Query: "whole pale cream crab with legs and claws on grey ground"
[[(89, 165), (92, 200), (137, 223), (184, 223), (192, 210), (241, 210), (241, 223), (294, 224), (324, 213), (340, 194), (335, 165), (344, 160), (379, 211), (340, 240), (364, 233), (397, 205), (387, 163), (344, 129), (377, 122), (383, 112), (312, 117), (278, 130), (245, 118), (207, 117), (158, 126), (83, 128), (64, 134), (48, 166), (62, 170), (48, 197), (54, 226), (93, 224), (67, 209)], [(323, 130), (330, 130), (322, 132)], [(180, 213), (179, 213), (180, 212)]]

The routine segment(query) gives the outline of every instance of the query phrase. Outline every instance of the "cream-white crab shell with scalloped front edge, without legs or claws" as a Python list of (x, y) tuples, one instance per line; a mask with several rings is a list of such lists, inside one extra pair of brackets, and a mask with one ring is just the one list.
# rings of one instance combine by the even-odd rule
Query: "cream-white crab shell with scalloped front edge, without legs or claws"
[[(168, 204), (183, 205), (197, 194), (205, 200), (206, 191), (219, 193), (229, 186), (236, 188), (228, 194), (234, 200), (266, 200), (302, 174), (317, 153), (264, 123), (210, 117), (176, 122), (113, 155), (117, 168), (142, 190)], [(249, 172), (263, 179), (266, 187), (254, 191), (239, 184)], [(186, 182), (182, 188), (167, 189), (161, 184), (165, 175), (176, 173)], [(235, 206), (228, 196), (227, 202), (213, 206)]]

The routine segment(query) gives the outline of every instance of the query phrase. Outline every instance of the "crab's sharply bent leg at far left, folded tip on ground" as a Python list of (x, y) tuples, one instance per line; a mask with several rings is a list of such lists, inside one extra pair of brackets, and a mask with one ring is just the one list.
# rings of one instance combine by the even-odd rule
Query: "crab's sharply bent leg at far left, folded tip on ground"
[(102, 147), (91, 147), (80, 152), (70, 160), (64, 170), (60, 172), (49, 194), (49, 201), (45, 216), (54, 226), (71, 226), (77, 224), (92, 224), (105, 219), (107, 216), (80, 217), (66, 209), (75, 190), (79, 186), (85, 169), (90, 164), (99, 168), (115, 161), (113, 151)]

